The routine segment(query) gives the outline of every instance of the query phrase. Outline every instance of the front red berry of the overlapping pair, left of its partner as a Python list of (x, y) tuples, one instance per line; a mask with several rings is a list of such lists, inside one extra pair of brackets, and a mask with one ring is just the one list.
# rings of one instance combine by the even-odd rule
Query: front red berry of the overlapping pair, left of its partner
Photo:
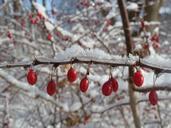
[(104, 96), (109, 96), (112, 93), (112, 84), (111, 81), (106, 81), (102, 86), (102, 93)]

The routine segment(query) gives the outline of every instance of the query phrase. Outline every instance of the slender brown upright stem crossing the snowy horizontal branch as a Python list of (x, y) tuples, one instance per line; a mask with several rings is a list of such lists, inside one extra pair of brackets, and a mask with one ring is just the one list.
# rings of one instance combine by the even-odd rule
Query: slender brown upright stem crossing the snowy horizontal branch
[[(128, 18), (128, 12), (125, 7), (125, 3), (123, 0), (118, 0), (118, 5), (120, 9), (120, 14), (122, 18), (123, 23), (123, 29), (125, 33), (125, 43), (127, 47), (127, 56), (132, 53), (132, 37), (131, 37), (131, 31), (130, 31), (130, 25), (129, 25), (129, 18)], [(134, 70), (133, 67), (129, 67), (129, 100), (130, 100), (130, 107), (132, 110), (134, 125), (136, 128), (141, 128), (141, 122), (138, 115), (137, 107), (136, 107), (136, 96), (135, 92), (133, 90), (133, 82), (131, 80), (133, 76)]]

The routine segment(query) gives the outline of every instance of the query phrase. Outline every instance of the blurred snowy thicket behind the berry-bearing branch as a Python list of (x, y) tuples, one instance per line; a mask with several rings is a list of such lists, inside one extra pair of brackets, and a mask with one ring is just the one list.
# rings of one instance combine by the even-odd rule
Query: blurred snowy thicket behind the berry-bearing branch
[[(85, 76), (88, 64), (76, 63), (78, 79), (69, 83), (66, 74), (70, 64), (36, 65), (32, 68), (38, 74), (35, 86), (27, 83), (28, 67), (4, 68), (7, 64), (27, 63), (35, 58), (66, 61), (73, 57), (100, 62), (125, 62), (134, 64), (139, 56), (145, 62), (163, 68), (170, 68), (170, 0), (161, 7), (160, 21), (149, 21), (154, 25), (147, 33), (140, 32), (133, 37), (134, 52), (126, 57), (126, 46), (117, 1), (109, 0), (29, 0), (0, 1), (0, 127), (3, 128), (133, 128), (133, 116), (129, 101), (128, 68), (123, 66), (90, 65), (89, 88), (86, 93), (79, 90), (79, 82)], [(156, 1), (153, 1), (156, 2)], [(153, 3), (152, 2), (152, 3)], [(17, 9), (18, 7), (18, 9)], [(128, 10), (137, 10), (138, 4), (127, 3)], [(40, 13), (44, 18), (37, 16)], [(30, 18), (31, 17), (31, 18)], [(138, 29), (140, 22), (131, 23), (131, 30)], [(160, 28), (160, 29), (158, 29)], [(8, 32), (12, 37), (8, 36)], [(160, 35), (160, 42), (153, 42), (154, 33)], [(51, 35), (50, 40), (47, 39)], [(144, 34), (149, 35), (146, 49)], [(139, 68), (139, 67), (138, 67)], [(111, 70), (110, 70), (111, 69)], [(138, 115), (143, 128), (169, 128), (171, 95), (169, 91), (171, 74), (156, 73), (141, 68), (144, 76), (142, 88), (154, 85), (165, 87), (157, 91), (158, 105), (149, 103), (146, 92), (135, 92)], [(106, 97), (101, 87), (109, 74), (119, 83), (117, 93)], [(58, 93), (49, 96), (46, 86), (58, 78)]]

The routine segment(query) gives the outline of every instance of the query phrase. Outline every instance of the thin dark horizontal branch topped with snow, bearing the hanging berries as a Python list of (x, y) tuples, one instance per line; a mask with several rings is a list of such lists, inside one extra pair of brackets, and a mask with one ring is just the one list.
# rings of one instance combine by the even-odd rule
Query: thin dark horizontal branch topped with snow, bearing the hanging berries
[[(46, 57), (36, 57), (33, 61), (28, 62), (20, 62), (15, 64), (0, 64), (0, 68), (14, 68), (14, 67), (30, 67), (36, 66), (36, 65), (49, 65), (52, 64), (54, 66), (58, 65), (65, 65), (65, 64), (74, 64), (74, 63), (80, 63), (80, 64), (99, 64), (99, 65), (109, 65), (112, 67), (117, 66), (126, 66), (126, 67), (133, 67), (133, 64), (129, 62), (129, 58), (120, 58), (120, 59), (97, 59), (92, 57), (73, 57), (68, 58), (65, 60), (57, 60), (52, 58), (46, 58)], [(171, 67), (166, 67), (154, 63), (149, 63), (145, 59), (139, 59), (135, 61), (136, 66), (145, 67), (152, 69), (158, 73), (171, 73)]]

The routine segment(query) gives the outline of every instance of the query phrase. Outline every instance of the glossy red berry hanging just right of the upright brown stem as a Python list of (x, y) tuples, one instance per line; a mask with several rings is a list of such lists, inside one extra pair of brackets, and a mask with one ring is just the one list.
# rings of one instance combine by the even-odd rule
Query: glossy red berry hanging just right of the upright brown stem
[(144, 77), (143, 77), (141, 71), (137, 71), (134, 73), (133, 81), (136, 86), (138, 86), (138, 87), (142, 86), (142, 84), (144, 83)]

